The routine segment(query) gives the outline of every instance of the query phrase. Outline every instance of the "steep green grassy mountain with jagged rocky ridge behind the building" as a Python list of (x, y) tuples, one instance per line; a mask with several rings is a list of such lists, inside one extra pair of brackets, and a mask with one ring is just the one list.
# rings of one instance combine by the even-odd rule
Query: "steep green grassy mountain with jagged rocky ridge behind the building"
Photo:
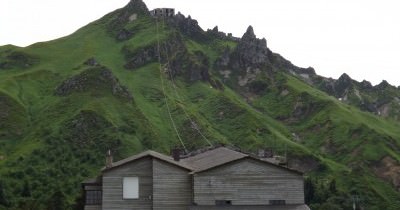
[(132, 0), (75, 33), (0, 47), (0, 209), (79, 209), (80, 182), (145, 149), (287, 155), (313, 209), (400, 209), (399, 88), (324, 78)]

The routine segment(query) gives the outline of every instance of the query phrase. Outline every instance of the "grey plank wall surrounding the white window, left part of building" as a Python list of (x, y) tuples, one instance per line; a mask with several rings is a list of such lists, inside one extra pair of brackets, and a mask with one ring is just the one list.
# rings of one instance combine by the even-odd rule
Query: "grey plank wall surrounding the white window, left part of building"
[[(103, 210), (151, 210), (152, 158), (145, 157), (103, 173)], [(139, 177), (139, 199), (122, 198), (123, 177)]]

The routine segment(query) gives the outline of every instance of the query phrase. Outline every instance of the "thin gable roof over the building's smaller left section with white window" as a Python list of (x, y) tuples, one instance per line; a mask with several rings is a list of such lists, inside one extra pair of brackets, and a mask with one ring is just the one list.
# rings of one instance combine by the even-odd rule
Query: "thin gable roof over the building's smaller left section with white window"
[(127, 164), (127, 163), (133, 162), (133, 161), (135, 161), (135, 160), (138, 160), (138, 159), (141, 159), (141, 158), (144, 158), (144, 157), (153, 157), (153, 158), (162, 160), (162, 161), (164, 161), (164, 162), (170, 163), (170, 164), (172, 164), (172, 165), (179, 166), (179, 167), (181, 167), (181, 168), (185, 168), (185, 169), (188, 169), (188, 170), (191, 170), (191, 171), (193, 170), (192, 167), (190, 167), (189, 165), (187, 165), (187, 164), (185, 164), (185, 163), (183, 163), (183, 162), (181, 162), (181, 161), (175, 161), (175, 160), (174, 160), (172, 157), (170, 157), (170, 156), (163, 155), (163, 154), (161, 154), (161, 153), (158, 153), (158, 152), (155, 152), (155, 151), (152, 151), (152, 150), (147, 150), (147, 151), (142, 152), (142, 153), (139, 153), (139, 154), (137, 154), (137, 155), (133, 155), (133, 156), (130, 156), (130, 157), (128, 157), (128, 158), (119, 160), (119, 161), (117, 161), (117, 162), (113, 162), (111, 167), (109, 167), (109, 168), (104, 167), (104, 168), (102, 169), (102, 171), (108, 171), (108, 170), (111, 170), (111, 169), (113, 169), (113, 168), (116, 168), (116, 167), (125, 165), (125, 164)]

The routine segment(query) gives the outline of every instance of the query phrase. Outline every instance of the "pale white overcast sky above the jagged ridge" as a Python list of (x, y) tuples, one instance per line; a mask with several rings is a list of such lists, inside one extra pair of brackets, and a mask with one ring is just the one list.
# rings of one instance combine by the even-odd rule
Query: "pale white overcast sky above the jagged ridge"
[[(400, 85), (397, 0), (144, 0), (173, 7), (203, 29), (242, 36), (248, 25), (293, 64), (338, 78)], [(0, 0), (0, 45), (66, 36), (129, 0)]]

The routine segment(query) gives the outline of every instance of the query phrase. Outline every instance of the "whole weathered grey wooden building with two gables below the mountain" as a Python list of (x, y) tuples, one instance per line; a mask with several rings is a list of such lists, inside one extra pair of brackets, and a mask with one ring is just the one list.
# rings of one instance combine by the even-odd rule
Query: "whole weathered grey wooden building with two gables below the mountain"
[(181, 159), (146, 151), (82, 185), (86, 210), (309, 210), (300, 172), (226, 147)]

